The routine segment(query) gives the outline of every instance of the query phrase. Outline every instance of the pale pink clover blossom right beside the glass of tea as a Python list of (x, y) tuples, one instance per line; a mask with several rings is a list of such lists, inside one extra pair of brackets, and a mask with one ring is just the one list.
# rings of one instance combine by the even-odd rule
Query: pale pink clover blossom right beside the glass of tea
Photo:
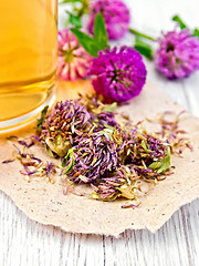
[(71, 81), (85, 78), (87, 68), (90, 66), (91, 55), (69, 29), (59, 31), (57, 45), (57, 75), (63, 80)]

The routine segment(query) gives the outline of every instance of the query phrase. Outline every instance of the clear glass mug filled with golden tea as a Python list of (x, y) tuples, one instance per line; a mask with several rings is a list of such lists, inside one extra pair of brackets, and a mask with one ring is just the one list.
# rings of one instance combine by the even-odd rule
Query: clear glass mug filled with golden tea
[(0, 132), (55, 100), (57, 0), (0, 0)]

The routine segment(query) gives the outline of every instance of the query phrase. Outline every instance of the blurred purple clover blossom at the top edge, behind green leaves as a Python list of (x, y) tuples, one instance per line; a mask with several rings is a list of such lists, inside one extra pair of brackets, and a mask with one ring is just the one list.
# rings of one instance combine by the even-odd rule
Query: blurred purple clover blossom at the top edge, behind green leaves
[(102, 12), (109, 40), (117, 40), (128, 31), (129, 10), (121, 0), (97, 0), (90, 7), (87, 29), (93, 34), (95, 16)]

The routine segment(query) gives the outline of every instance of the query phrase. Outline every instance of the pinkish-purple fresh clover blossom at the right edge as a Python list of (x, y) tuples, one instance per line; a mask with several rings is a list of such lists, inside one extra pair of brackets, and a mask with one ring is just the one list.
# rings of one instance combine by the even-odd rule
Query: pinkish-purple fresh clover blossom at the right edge
[(154, 60), (166, 78), (182, 79), (199, 69), (199, 40), (188, 29), (169, 31), (158, 42)]

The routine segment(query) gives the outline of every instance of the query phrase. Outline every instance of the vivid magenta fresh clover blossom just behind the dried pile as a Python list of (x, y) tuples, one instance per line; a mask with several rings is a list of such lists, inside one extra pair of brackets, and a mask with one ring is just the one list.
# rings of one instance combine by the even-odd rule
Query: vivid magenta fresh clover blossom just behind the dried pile
[(134, 48), (105, 49), (93, 59), (88, 71), (96, 93), (107, 102), (125, 102), (138, 95), (146, 81), (146, 68)]

